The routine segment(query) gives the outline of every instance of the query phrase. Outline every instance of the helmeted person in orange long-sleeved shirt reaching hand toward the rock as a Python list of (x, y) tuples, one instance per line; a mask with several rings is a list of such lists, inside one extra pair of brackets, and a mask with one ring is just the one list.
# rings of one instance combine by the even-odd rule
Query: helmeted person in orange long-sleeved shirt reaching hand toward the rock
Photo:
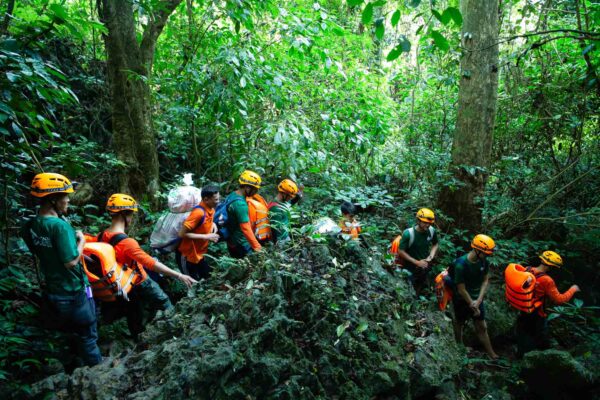
[[(138, 212), (138, 204), (133, 197), (128, 194), (115, 193), (106, 202), (106, 210), (111, 216), (111, 225), (105, 231), (100, 232), (95, 239), (112, 245), (115, 248), (117, 262), (135, 268), (138, 273), (138, 278), (134, 281), (134, 287), (129, 294), (130, 301), (124, 304), (129, 331), (137, 340), (138, 335), (144, 329), (143, 310), (145, 306), (149, 306), (152, 312), (168, 310), (173, 307), (166, 293), (154, 280), (149, 279), (146, 269), (178, 279), (188, 288), (196, 283), (196, 280), (172, 270), (151, 257), (142, 250), (137, 240), (127, 236), (125, 231), (131, 225), (134, 214)], [(110, 304), (102, 304), (102, 306), (107, 310), (111, 308)], [(123, 304), (120, 306), (122, 307)]]

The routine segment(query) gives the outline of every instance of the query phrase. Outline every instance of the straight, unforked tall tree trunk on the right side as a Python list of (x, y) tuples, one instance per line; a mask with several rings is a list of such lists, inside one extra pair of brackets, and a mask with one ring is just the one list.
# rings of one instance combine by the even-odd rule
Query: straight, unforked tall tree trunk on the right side
[(446, 186), (440, 206), (456, 227), (481, 229), (498, 99), (498, 0), (462, 0), (458, 114), (450, 171), (461, 185)]

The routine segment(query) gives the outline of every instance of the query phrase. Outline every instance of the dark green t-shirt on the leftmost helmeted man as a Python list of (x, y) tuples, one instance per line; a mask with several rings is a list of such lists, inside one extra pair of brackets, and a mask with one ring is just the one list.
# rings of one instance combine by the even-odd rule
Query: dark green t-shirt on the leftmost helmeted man
[(79, 255), (75, 230), (67, 221), (37, 216), (24, 225), (22, 233), (29, 250), (40, 260), (48, 293), (73, 294), (89, 286), (81, 263), (71, 269), (64, 266)]

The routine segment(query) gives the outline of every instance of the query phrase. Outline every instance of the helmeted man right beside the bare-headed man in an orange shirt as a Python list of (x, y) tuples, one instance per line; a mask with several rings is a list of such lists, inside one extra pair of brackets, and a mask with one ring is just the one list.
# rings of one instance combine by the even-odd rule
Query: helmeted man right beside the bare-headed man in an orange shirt
[(258, 193), (262, 179), (254, 171), (242, 172), (238, 179), (239, 187), (225, 199), (223, 207), (227, 209), (227, 230), (230, 236), (227, 238), (227, 249), (234, 258), (243, 258), (252, 251), (260, 251), (262, 246), (256, 239), (246, 198)]

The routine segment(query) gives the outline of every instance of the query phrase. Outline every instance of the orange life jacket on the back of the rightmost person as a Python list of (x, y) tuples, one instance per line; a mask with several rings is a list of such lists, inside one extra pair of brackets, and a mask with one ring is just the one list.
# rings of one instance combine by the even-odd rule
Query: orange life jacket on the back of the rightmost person
[[(537, 275), (542, 276), (541, 274)], [(506, 300), (508, 303), (528, 314), (543, 305), (541, 299), (534, 298), (536, 275), (519, 264), (508, 264), (504, 270), (506, 281)]]

